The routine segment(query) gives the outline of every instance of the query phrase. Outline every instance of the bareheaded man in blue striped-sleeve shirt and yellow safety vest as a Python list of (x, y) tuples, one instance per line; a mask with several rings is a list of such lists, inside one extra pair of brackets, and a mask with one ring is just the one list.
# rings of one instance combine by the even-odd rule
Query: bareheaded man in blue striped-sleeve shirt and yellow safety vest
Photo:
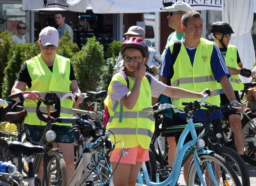
[[(233, 88), (228, 80), (230, 73), (225, 64), (223, 55), (218, 46), (212, 41), (202, 38), (203, 34), (203, 17), (197, 11), (189, 11), (181, 18), (181, 30), (184, 32), (184, 37), (181, 40), (181, 49), (175, 61), (172, 61), (172, 49), (174, 43), (166, 49), (162, 67), (159, 76), (164, 82), (171, 82), (172, 87), (180, 87), (191, 91), (202, 91), (205, 87), (213, 90), (213, 96), (207, 99), (207, 102), (212, 105), (219, 105), (219, 83), (223, 85), (224, 92), (232, 105), (238, 105), (239, 113), (243, 110), (243, 105), (236, 101)], [(218, 83), (219, 82), (219, 83)], [(182, 102), (191, 102), (194, 99), (173, 99), (172, 104), (184, 108)], [(201, 108), (193, 114), (195, 123), (205, 121), (205, 109)], [(214, 134), (222, 133), (221, 113), (216, 112), (211, 115)], [(184, 114), (174, 111), (172, 121), (174, 125), (187, 124), (187, 118)], [(176, 143), (181, 135), (181, 132), (175, 133)], [(191, 139), (186, 137), (185, 142)], [(224, 139), (222, 137), (222, 143)], [(190, 156), (183, 166), (183, 176), (187, 182), (187, 173), (193, 156)]]

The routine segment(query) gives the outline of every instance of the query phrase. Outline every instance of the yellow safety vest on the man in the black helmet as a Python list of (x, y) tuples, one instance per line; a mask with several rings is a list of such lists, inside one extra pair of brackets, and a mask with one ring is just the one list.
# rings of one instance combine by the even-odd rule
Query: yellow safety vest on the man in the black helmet
[[(237, 64), (236, 52), (237, 52), (236, 46), (233, 46), (233, 45), (227, 46), (227, 53), (225, 56), (225, 62), (227, 66), (233, 67), (233, 68), (240, 68)], [(232, 74), (228, 79), (230, 81), (230, 84), (233, 87), (233, 90), (240, 91), (244, 89), (244, 84), (237, 74)], [(222, 89), (221, 84), (219, 88)]]

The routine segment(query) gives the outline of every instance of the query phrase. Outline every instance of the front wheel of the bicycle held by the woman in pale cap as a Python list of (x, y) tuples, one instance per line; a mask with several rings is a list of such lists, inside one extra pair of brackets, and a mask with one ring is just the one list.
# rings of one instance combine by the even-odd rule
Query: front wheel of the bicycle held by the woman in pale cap
[[(49, 151), (47, 162), (47, 180), (49, 185), (67, 185), (67, 170), (64, 158), (60, 152)], [(43, 174), (44, 175), (44, 174)], [(44, 179), (43, 179), (44, 185)]]

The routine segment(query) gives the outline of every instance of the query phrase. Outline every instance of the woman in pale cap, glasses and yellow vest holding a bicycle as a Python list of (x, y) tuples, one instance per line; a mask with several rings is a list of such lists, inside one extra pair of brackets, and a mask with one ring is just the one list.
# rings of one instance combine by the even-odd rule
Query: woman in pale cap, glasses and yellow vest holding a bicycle
[[(54, 92), (61, 97), (62, 93), (68, 93), (70, 89), (76, 94), (78, 99), (75, 104), (83, 102), (83, 96), (78, 88), (73, 67), (68, 58), (56, 55), (59, 45), (59, 33), (53, 27), (44, 28), (39, 34), (38, 45), (41, 53), (34, 58), (25, 61), (17, 80), (12, 88), (11, 94), (30, 90), (39, 97), (44, 97), (45, 93)], [(28, 95), (29, 97), (29, 95)], [(19, 99), (19, 98), (18, 98)], [(14, 99), (18, 101), (18, 99)], [(61, 114), (72, 117), (72, 100), (61, 102)], [(36, 102), (34, 100), (25, 100), (24, 110), (27, 111), (25, 117), (25, 131), (27, 141), (32, 144), (38, 144), (43, 133), (45, 122), (40, 121), (36, 116)], [(69, 113), (64, 113), (69, 112)], [(56, 132), (58, 147), (62, 149), (67, 167), (67, 178), (71, 178), (74, 172), (74, 150), (73, 149), (73, 131), (72, 124), (62, 125), (61, 123), (52, 124), (52, 130)], [(53, 143), (56, 146), (56, 143)], [(39, 167), (38, 175), (42, 176), (42, 166)]]

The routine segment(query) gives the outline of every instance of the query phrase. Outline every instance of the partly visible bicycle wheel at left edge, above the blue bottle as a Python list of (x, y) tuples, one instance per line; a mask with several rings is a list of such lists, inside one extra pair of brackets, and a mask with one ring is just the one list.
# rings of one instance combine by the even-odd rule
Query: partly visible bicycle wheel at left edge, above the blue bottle
[(13, 161), (13, 156), (8, 150), (8, 145), (11, 143), (10, 138), (0, 137), (0, 161)]

